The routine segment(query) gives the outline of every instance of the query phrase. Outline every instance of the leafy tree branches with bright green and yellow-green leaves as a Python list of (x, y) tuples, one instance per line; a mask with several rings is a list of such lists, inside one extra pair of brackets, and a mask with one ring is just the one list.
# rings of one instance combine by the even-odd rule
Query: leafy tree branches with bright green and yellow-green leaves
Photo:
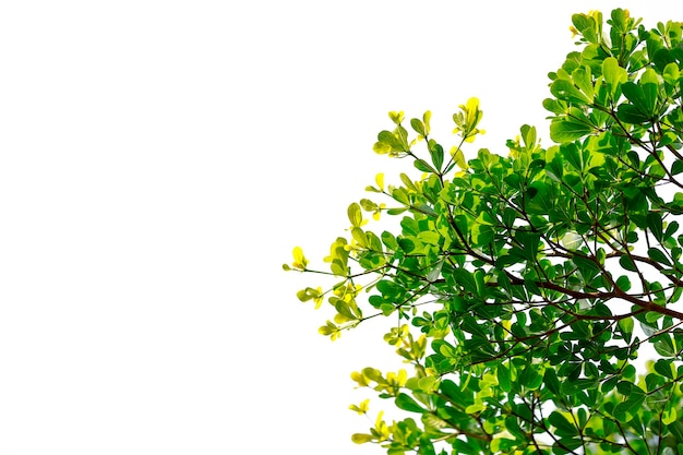
[[(582, 49), (543, 101), (553, 145), (525, 124), (505, 155), (466, 161), (476, 98), (453, 116), (450, 153), (429, 111), (390, 112), (374, 152), (421, 176), (378, 175), (367, 190), (382, 200), (348, 207), (328, 271), (300, 248), (285, 265), (334, 277), (298, 294), (334, 308), (320, 328), (332, 339), (397, 321), (384, 339), (411, 372), (352, 379), (408, 417), (379, 412), (355, 442), (392, 455), (683, 453), (681, 23), (647, 31), (621, 9), (607, 25), (599, 12), (572, 22)], [(363, 212), (399, 223), (373, 232)], [(638, 362), (648, 346), (657, 359)]]

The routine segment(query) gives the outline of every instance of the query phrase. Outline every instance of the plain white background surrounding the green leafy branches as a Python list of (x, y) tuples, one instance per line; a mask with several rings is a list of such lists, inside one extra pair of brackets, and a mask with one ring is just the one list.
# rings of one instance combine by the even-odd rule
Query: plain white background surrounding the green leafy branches
[(467, 3), (0, 3), (0, 455), (383, 453), (348, 405), (351, 371), (400, 367), (384, 327), (329, 343), (295, 297), (320, 282), (280, 265), (410, 169), (371, 151), (388, 110), (431, 109), (450, 148), (477, 96), (470, 153), (548, 137), (547, 73), (598, 2)]

